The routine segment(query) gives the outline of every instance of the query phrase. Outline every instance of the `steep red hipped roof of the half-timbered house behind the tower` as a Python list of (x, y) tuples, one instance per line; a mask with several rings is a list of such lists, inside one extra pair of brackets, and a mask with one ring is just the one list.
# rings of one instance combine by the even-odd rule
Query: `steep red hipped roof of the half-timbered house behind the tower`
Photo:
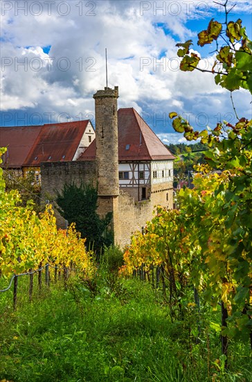
[[(134, 108), (118, 110), (118, 156), (119, 162), (175, 158)], [(95, 158), (96, 140), (93, 140), (78, 160)]]

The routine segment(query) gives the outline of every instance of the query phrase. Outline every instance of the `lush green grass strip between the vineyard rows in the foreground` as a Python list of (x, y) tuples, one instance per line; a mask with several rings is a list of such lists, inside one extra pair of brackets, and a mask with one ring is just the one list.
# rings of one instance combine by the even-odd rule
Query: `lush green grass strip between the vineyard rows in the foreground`
[(112, 281), (44, 285), (29, 302), (24, 278), (14, 312), (1, 294), (0, 381), (250, 381), (249, 346), (231, 344), (224, 372), (215, 333), (195, 344), (150, 285)]

